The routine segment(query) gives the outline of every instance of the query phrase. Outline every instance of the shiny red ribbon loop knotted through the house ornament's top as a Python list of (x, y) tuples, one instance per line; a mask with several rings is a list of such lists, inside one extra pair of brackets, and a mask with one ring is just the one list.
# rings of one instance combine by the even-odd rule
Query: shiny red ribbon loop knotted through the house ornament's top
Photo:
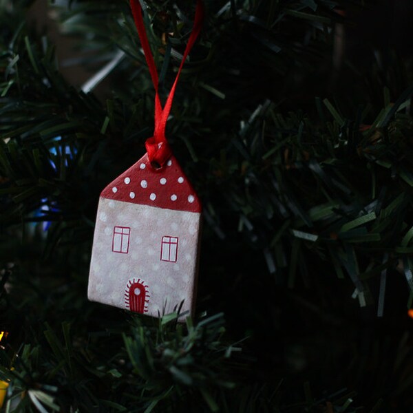
[(167, 102), (165, 103), (165, 107), (162, 109), (162, 105), (160, 103), (159, 93), (158, 93), (158, 72), (156, 70), (155, 61), (153, 60), (153, 55), (151, 52), (151, 47), (149, 46), (149, 41), (147, 38), (147, 34), (145, 31), (145, 24), (143, 23), (142, 18), (142, 7), (140, 6), (139, 0), (131, 0), (131, 10), (132, 14), (134, 15), (134, 20), (136, 24), (136, 28), (138, 29), (138, 34), (140, 38), (140, 43), (142, 45), (143, 52), (145, 54), (145, 59), (147, 61), (147, 65), (149, 67), (149, 72), (151, 74), (153, 86), (155, 87), (155, 130), (153, 132), (152, 138), (147, 139), (145, 142), (145, 147), (147, 149), (148, 158), (152, 165), (159, 165), (162, 167), (165, 162), (170, 158), (172, 155), (171, 148), (168, 145), (167, 138), (165, 137), (165, 129), (167, 127), (167, 120), (169, 116), (169, 112), (171, 112), (172, 100), (173, 95), (175, 94), (176, 85), (178, 83), (178, 78), (182, 71), (182, 66), (187, 59), (189, 52), (195, 43), (198, 34), (200, 34), (202, 22), (204, 21), (204, 6), (202, 4), (202, 0), (197, 0), (196, 3), (196, 10), (195, 10), (195, 19), (193, 21), (193, 28), (191, 32), (191, 36), (189, 36), (189, 41), (187, 47), (184, 51), (184, 56), (182, 57), (182, 61), (178, 70), (178, 74), (176, 75), (175, 81), (173, 82), (171, 92), (169, 92), (169, 96), (167, 98)]

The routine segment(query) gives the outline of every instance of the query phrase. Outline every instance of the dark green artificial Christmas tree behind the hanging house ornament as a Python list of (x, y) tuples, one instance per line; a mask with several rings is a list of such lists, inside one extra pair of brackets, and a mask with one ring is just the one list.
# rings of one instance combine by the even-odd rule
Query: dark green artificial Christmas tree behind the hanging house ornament
[[(153, 136), (129, 4), (50, 4), (68, 62), (33, 3), (0, 2), (3, 410), (410, 412), (411, 50), (352, 34), (385, 2), (205, 2), (167, 121), (204, 207), (186, 324), (87, 301), (100, 192)], [(165, 101), (195, 1), (145, 6)]]

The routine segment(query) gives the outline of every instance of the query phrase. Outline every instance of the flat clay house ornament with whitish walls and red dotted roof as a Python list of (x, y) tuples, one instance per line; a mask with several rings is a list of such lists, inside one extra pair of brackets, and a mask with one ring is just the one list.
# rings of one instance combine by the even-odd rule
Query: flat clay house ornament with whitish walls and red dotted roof
[(173, 156), (147, 155), (100, 194), (88, 297), (155, 317), (192, 309), (201, 204)]

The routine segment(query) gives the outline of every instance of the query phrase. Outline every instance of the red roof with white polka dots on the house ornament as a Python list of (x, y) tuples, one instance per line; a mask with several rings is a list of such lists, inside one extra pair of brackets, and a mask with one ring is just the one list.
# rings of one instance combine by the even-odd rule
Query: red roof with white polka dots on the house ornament
[(201, 212), (201, 202), (174, 156), (165, 167), (154, 169), (145, 153), (100, 194), (116, 201), (176, 211)]

